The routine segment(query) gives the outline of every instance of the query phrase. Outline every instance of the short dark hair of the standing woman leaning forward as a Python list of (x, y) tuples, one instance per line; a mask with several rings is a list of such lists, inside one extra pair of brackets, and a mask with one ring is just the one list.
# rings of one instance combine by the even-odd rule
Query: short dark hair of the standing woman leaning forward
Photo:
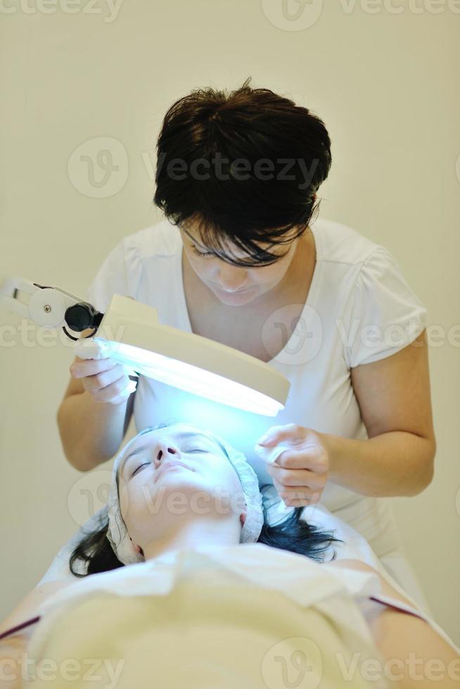
[[(251, 88), (250, 79), (230, 94), (196, 89), (171, 105), (156, 146), (153, 198), (172, 224), (184, 231), (196, 224), (207, 249), (246, 266), (274, 262), (255, 242), (277, 245), (305, 233), (331, 168), (324, 122), (270, 89)], [(261, 170), (267, 164), (269, 179)], [(198, 173), (199, 165), (209, 172)], [(232, 259), (229, 242), (248, 260)]]

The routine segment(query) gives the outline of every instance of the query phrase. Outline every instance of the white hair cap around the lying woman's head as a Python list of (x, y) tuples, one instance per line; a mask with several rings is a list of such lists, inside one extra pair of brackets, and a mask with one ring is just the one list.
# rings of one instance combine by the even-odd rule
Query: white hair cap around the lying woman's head
[[(173, 425), (173, 424), (171, 424)], [(262, 511), (262, 494), (260, 492), (259, 480), (248, 460), (242, 452), (234, 449), (222, 437), (206, 429), (197, 428), (190, 424), (184, 424), (193, 428), (196, 431), (204, 432), (206, 435), (217, 440), (224, 446), (231, 465), (233, 465), (241, 482), (243, 493), (245, 494), (245, 503), (247, 514), (243, 528), (241, 529), (240, 543), (256, 543), (259, 539), (260, 532), (264, 523), (264, 515)], [(161, 427), (161, 426), (160, 426)], [(117, 555), (118, 560), (124, 565), (133, 565), (136, 562), (144, 562), (143, 555), (135, 550), (132, 540), (129, 537), (127, 528), (122, 520), (120, 514), (120, 501), (118, 498), (117, 489), (117, 472), (122, 461), (127, 455), (129, 447), (132, 445), (139, 435), (153, 430), (160, 430), (160, 427), (149, 427), (139, 432), (132, 438), (122, 449), (122, 451), (115, 458), (113, 463), (112, 487), (110, 491), (110, 498), (108, 501), (108, 530), (107, 538), (113, 548), (113, 552)], [(165, 426), (162, 426), (165, 427)]]

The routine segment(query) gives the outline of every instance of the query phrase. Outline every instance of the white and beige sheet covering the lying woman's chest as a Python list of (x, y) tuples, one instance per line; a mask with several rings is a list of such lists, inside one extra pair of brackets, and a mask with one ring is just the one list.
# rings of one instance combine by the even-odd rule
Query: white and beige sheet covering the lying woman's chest
[[(300, 648), (321, 686), (345, 688), (350, 680), (340, 678), (338, 655), (347, 667), (355, 653), (359, 662), (385, 665), (366, 619), (371, 596), (385, 600), (377, 574), (262, 543), (177, 549), (58, 591), (41, 604), (43, 617), (27, 652), (36, 663), (44, 657), (79, 661), (90, 651), (93, 658), (122, 658), (117, 689), (141, 688), (153, 678), (162, 689), (281, 689), (288, 685), (279, 674), (281, 659), (288, 662)], [(311, 679), (296, 686), (317, 686)], [(46, 681), (44, 687), (54, 686)], [(384, 676), (368, 684), (359, 674), (353, 686), (388, 687)]]

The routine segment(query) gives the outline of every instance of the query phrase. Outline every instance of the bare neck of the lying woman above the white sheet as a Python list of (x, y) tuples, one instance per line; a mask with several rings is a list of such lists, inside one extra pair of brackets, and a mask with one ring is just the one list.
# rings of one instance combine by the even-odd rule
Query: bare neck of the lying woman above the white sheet
[(240, 542), (241, 524), (232, 520), (223, 523), (222, 519), (212, 521), (197, 520), (171, 527), (160, 539), (143, 546), (145, 560), (155, 560), (160, 555), (174, 550), (215, 550), (226, 546), (236, 546)]

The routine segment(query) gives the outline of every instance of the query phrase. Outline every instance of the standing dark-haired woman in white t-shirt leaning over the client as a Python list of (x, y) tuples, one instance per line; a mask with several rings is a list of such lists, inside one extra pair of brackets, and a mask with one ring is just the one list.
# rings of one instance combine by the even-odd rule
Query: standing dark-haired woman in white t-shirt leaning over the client
[[(385, 500), (433, 477), (426, 309), (385, 247), (314, 219), (331, 167), (324, 122), (247, 81), (174, 103), (157, 149), (165, 220), (110, 252), (88, 301), (106, 311), (115, 292), (132, 296), (161, 323), (268, 362), (290, 380), (288, 401), (273, 420), (143, 376), (129, 393), (122, 366), (76, 359), (58, 411), (68, 460), (88, 470), (113, 457), (133, 411), (137, 432), (207, 427), (287, 509), (321, 499), (428, 609)], [(289, 448), (278, 465), (255, 451), (266, 431), (269, 446)]]

